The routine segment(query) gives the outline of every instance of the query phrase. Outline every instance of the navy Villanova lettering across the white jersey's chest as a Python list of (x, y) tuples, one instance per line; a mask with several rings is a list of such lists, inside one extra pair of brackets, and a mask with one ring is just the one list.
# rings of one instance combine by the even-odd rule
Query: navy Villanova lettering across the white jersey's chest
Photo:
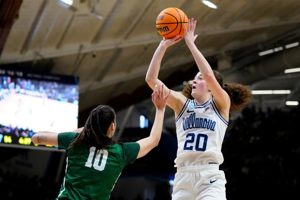
[(202, 128), (215, 131), (216, 122), (207, 118), (196, 118), (196, 113), (192, 113), (182, 120), (183, 130), (192, 128)]

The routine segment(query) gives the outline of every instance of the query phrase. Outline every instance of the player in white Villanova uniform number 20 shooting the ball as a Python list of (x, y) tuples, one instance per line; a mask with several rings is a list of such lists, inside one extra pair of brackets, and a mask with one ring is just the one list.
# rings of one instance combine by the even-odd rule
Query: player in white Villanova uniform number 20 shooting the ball
[[(221, 147), (229, 113), (245, 107), (252, 95), (247, 86), (223, 84), (222, 75), (211, 69), (194, 44), (195, 26), (193, 18), (188, 20), (184, 37), (200, 72), (183, 93), (173, 91), (167, 101), (175, 112), (178, 139), (172, 199), (224, 200), (226, 179), (219, 165), (223, 163)], [(158, 72), (166, 49), (181, 39), (163, 39), (155, 51), (146, 75), (153, 90), (162, 84)]]

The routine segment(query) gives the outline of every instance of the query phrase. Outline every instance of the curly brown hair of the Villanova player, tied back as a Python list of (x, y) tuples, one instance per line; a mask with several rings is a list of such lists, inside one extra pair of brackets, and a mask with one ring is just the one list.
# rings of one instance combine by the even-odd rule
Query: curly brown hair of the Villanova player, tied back
[[(245, 86), (239, 83), (226, 83), (223, 85), (223, 77), (221, 73), (212, 70), (217, 82), (220, 84), (223, 90), (227, 92), (230, 98), (230, 110), (229, 113), (234, 113), (241, 108), (245, 108), (250, 99), (252, 99), (249, 86)], [(194, 99), (192, 97), (192, 85), (187, 83), (182, 90), (183, 95), (188, 99)]]

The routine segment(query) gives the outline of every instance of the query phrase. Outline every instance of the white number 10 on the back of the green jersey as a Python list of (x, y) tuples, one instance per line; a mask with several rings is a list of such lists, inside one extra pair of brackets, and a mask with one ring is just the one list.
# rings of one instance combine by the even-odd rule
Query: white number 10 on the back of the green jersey
[[(93, 158), (94, 158), (94, 155), (95, 155), (95, 151), (96, 151), (96, 147), (91, 147), (90, 148), (90, 154), (88, 155), (88, 161), (85, 163), (85, 166), (86, 167), (89, 167), (89, 168), (92, 168), (92, 161), (93, 161)], [(94, 160), (94, 164), (93, 164), (93, 167), (94, 169), (97, 169), (99, 171), (102, 171), (104, 168), (105, 168), (105, 165), (106, 165), (106, 160), (107, 160), (107, 156), (108, 156), (108, 151), (106, 150), (101, 150), (102, 153), (99, 153), (100, 150), (97, 151), (97, 154), (96, 154), (96, 158)], [(101, 164), (99, 166), (99, 161), (100, 161), (100, 157), (101, 155), (103, 155), (102, 157), (102, 161), (101, 161)]]

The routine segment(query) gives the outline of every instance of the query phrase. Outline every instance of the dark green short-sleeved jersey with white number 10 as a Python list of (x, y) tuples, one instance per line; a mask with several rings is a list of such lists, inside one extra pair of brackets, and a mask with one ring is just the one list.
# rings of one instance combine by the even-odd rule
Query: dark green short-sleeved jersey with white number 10
[[(79, 133), (58, 134), (58, 149), (67, 149)], [(66, 175), (56, 200), (109, 199), (125, 165), (133, 163), (138, 143), (113, 144), (109, 149), (80, 145), (67, 150)]]

